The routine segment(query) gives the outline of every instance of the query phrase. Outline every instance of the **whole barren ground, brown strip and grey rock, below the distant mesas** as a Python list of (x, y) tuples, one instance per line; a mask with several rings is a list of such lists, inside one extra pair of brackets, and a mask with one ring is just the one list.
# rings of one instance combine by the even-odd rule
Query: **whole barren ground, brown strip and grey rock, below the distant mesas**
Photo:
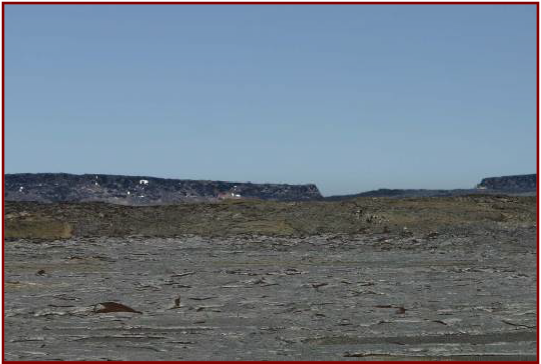
[(6, 360), (536, 359), (535, 197), (5, 218)]

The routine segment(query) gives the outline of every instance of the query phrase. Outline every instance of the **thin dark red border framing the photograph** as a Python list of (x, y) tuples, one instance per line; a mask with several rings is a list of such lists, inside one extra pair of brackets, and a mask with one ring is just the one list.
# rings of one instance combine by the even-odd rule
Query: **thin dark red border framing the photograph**
[[(537, 156), (536, 156), (536, 173), (537, 173), (537, 360), (539, 363), (539, 7), (540, 3), (538, 1), (4, 1), (2, 2), (2, 186), (5, 185), (4, 175), (5, 175), (5, 6), (6, 5), (535, 5), (536, 14), (537, 14), (537, 37), (536, 37), (536, 64), (537, 64), (537, 119), (536, 119), (536, 140), (537, 140)], [(2, 194), (2, 272), (4, 271), (4, 194)], [(4, 276), (2, 276), (2, 313), (4, 313)], [(2, 334), (4, 334), (4, 320), (2, 319)], [(1, 343), (2, 347), (2, 362), (7, 362), (4, 359), (5, 347), (4, 342), (6, 340), (5, 336)], [(27, 361), (30, 363), (48, 363), (50, 361)], [(75, 361), (63, 361), (64, 363), (76, 363)], [(126, 361), (127, 363), (131, 361)], [(136, 363), (136, 361), (133, 361)], [(160, 361), (161, 363), (177, 363), (178, 361)], [(204, 362), (204, 361), (203, 361)], [(211, 361), (207, 361), (211, 362)], [(224, 361), (230, 362), (230, 361)], [(245, 361), (245, 363), (258, 363), (259, 361)], [(267, 361), (270, 363), (287, 363), (293, 361)], [(310, 361), (294, 361), (297, 362), (310, 362)], [(333, 361), (334, 363), (336, 361)], [(338, 361), (339, 362), (339, 361)], [(392, 361), (395, 362), (395, 361)], [(400, 361), (401, 363), (417, 363), (417, 361)], [(467, 361), (446, 361), (449, 363), (469, 363)], [(501, 361), (512, 362), (512, 361)], [(100, 363), (98, 361), (87, 361), (87, 363)], [(232, 362), (231, 362), (232, 363)], [(322, 362), (323, 363), (323, 362)], [(331, 363), (331, 362), (329, 362)], [(378, 363), (391, 363), (391, 361), (378, 361)]]

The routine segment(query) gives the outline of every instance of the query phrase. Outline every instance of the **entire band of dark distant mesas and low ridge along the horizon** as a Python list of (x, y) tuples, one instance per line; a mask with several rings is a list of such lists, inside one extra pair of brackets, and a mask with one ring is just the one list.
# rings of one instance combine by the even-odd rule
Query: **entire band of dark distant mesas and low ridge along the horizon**
[(470, 194), (535, 195), (537, 174), (484, 178), (475, 188), (453, 190), (378, 189), (323, 198), (314, 184), (256, 184), (107, 174), (6, 174), (6, 201), (107, 202), (165, 205), (259, 199), (271, 201), (341, 201), (358, 197), (446, 197)]

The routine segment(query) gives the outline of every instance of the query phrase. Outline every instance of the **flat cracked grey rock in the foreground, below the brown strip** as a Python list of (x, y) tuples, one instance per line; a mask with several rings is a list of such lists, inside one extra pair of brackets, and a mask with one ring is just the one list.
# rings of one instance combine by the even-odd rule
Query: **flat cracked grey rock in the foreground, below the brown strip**
[(5, 358), (535, 360), (535, 233), (9, 241)]

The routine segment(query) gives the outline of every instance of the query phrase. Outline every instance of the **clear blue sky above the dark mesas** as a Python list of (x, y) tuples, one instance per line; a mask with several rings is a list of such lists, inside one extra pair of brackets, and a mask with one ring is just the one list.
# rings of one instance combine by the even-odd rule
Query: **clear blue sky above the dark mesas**
[(536, 170), (534, 5), (7, 5), (6, 173), (469, 188)]

